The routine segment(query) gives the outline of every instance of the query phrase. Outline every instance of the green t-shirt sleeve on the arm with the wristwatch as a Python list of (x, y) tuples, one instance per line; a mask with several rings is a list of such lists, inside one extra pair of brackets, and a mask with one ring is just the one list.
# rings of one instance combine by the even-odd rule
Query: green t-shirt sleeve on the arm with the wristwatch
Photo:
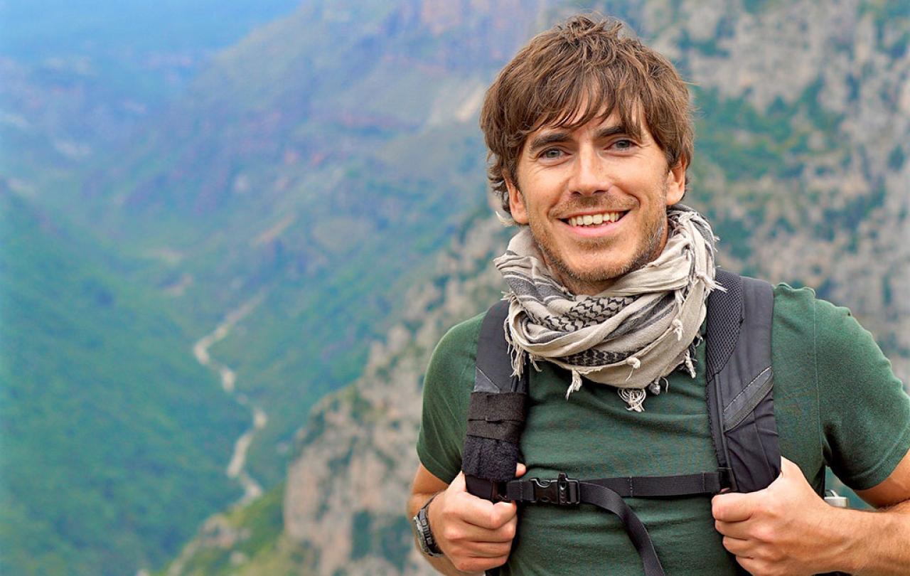
[(446, 482), (461, 470), (481, 319), (471, 318), (440, 339), (423, 380), (417, 455), (424, 468)]

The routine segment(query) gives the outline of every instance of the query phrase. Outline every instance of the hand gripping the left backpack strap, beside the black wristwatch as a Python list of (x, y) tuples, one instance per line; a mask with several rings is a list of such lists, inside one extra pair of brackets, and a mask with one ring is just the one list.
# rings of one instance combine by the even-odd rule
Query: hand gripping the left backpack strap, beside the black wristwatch
[[(525, 472), (519, 464), (515, 476)], [(501, 566), (509, 559), (518, 527), (515, 502), (490, 502), (471, 494), (459, 472), (449, 488), (430, 502), (430, 528), (452, 565), (466, 572)]]

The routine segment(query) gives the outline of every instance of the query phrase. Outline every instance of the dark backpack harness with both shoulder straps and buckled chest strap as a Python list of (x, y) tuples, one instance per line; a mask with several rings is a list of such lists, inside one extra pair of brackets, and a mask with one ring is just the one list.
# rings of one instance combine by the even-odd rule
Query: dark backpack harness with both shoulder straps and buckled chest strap
[[(623, 498), (713, 495), (766, 488), (780, 474), (774, 419), (771, 321), (773, 288), (763, 280), (718, 269), (726, 291), (708, 297), (705, 334), (706, 401), (717, 470), (675, 476), (576, 480), (515, 480), (528, 406), (528, 374), (513, 377), (501, 300), (480, 327), (474, 389), (461, 468), (467, 490), (486, 500), (592, 504), (615, 514), (642, 558), (646, 576), (663, 576), (647, 529)], [(488, 571), (496, 573), (498, 571)]]

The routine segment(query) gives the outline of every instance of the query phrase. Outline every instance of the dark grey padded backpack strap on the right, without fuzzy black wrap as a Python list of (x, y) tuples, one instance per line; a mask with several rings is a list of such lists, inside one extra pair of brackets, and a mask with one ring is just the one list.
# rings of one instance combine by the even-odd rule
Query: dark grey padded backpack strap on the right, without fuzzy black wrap
[(774, 419), (771, 321), (773, 288), (717, 270), (726, 291), (708, 297), (707, 400), (714, 450), (733, 490), (767, 487), (780, 474)]

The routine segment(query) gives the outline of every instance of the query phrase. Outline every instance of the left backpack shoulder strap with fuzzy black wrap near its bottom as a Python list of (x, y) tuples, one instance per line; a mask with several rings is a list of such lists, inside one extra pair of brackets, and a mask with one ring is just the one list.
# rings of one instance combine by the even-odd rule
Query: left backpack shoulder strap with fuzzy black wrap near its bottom
[(461, 452), (468, 491), (487, 500), (505, 497), (502, 482), (515, 478), (519, 442), (528, 409), (528, 370), (512, 376), (503, 325), (509, 302), (494, 304), (480, 325), (474, 391)]

